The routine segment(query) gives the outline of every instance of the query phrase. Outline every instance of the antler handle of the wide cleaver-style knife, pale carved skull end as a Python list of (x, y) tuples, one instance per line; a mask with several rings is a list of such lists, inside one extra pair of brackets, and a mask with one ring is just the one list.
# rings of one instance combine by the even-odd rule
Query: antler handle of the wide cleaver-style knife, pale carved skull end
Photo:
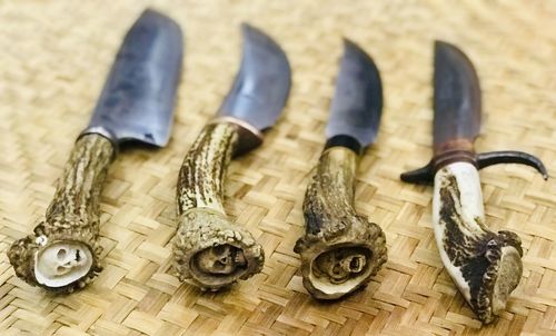
[(28, 284), (72, 293), (102, 270), (99, 195), (113, 155), (112, 144), (100, 135), (76, 142), (46, 220), (8, 250), (16, 274)]

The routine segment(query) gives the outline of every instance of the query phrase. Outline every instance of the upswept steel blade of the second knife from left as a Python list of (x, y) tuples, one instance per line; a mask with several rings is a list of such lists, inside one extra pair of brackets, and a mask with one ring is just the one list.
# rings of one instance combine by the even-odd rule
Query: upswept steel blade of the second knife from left
[(281, 48), (262, 31), (246, 23), (241, 31), (241, 67), (219, 115), (264, 130), (275, 123), (286, 105), (291, 70)]

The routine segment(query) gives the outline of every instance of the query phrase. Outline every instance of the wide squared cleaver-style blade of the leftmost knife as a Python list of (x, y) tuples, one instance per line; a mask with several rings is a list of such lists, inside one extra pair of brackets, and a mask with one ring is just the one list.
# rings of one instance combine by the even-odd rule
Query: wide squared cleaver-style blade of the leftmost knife
[(146, 10), (126, 34), (85, 132), (165, 146), (181, 72), (182, 36), (170, 18)]

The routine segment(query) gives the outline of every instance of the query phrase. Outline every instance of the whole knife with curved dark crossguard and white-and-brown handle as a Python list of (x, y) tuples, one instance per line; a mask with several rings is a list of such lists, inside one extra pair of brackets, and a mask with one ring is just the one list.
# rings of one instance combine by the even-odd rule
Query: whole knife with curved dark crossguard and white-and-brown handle
[(476, 154), (480, 128), (479, 80), (455, 46), (435, 43), (434, 157), (401, 180), (433, 184), (433, 226), (443, 264), (477, 317), (490, 323), (506, 307), (522, 278), (522, 241), (512, 231), (493, 233), (485, 223), (478, 169), (524, 164), (548, 178), (543, 162), (526, 152)]

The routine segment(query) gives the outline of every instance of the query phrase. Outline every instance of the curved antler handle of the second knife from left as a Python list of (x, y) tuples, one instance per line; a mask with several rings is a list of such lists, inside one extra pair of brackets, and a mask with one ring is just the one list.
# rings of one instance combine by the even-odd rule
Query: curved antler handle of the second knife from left
[(262, 269), (265, 255), (252, 235), (231, 223), (222, 185), (239, 146), (239, 127), (220, 121), (205, 127), (189, 149), (178, 179), (175, 268), (180, 280), (218, 290)]

